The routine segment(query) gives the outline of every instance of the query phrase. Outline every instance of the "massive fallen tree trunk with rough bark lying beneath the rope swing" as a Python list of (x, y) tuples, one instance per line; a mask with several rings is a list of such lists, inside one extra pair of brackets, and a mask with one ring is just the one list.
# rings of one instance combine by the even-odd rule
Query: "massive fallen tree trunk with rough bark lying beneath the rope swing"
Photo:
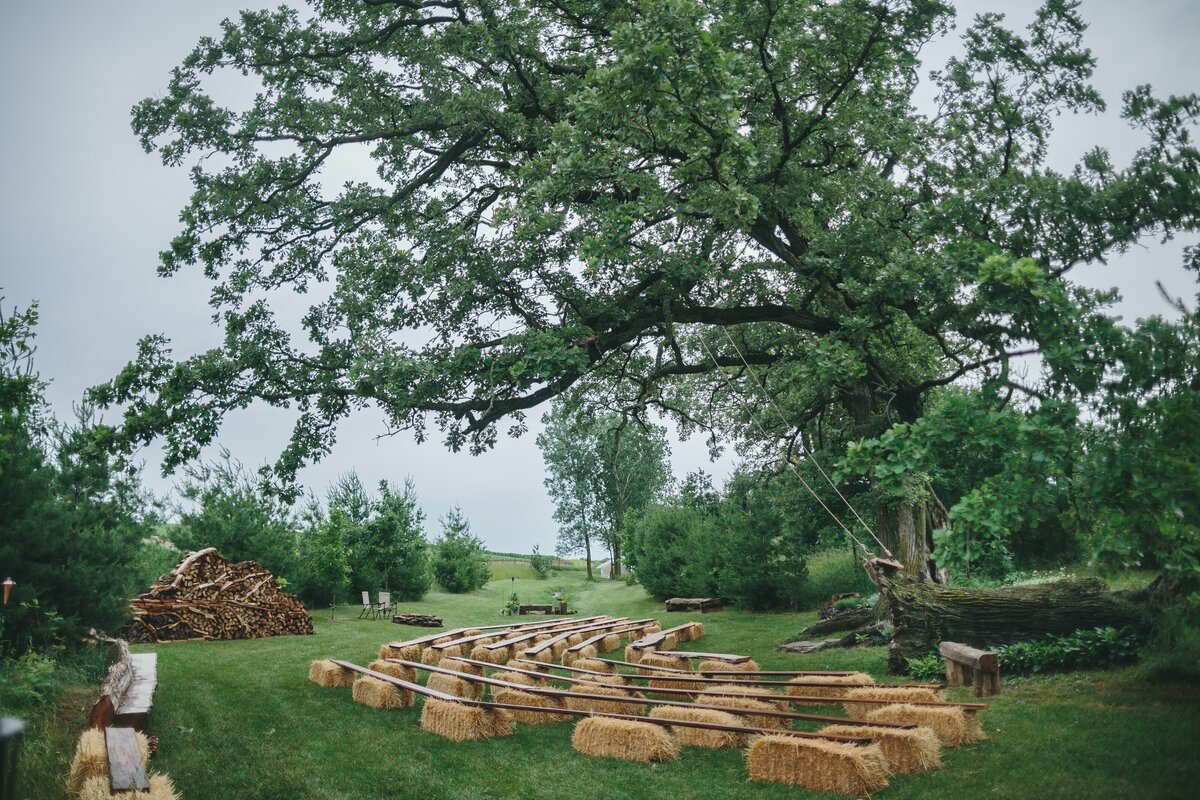
[(940, 642), (988, 648), (1088, 627), (1142, 625), (1146, 610), (1098, 578), (1004, 589), (958, 589), (876, 570), (895, 633), (888, 668), (929, 655)]

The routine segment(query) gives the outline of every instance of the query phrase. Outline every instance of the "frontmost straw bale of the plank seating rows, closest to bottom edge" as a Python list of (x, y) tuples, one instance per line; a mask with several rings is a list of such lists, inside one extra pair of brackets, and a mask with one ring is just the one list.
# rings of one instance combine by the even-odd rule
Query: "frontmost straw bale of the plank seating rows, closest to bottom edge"
[(746, 751), (751, 781), (772, 781), (854, 798), (888, 784), (887, 758), (865, 747), (820, 739), (758, 736)]

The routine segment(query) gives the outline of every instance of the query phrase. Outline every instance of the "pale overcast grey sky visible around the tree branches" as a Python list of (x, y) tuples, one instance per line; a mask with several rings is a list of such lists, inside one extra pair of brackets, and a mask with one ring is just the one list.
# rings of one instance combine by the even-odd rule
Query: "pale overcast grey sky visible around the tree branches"
[[(179, 355), (211, 347), (209, 285), (198, 271), (169, 279), (155, 275), (157, 253), (178, 233), (188, 197), (182, 169), (164, 168), (142, 151), (130, 131), (130, 109), (161, 94), (168, 73), (196, 41), (253, 0), (60, 0), (0, 4), (0, 294), (6, 309), (37, 301), (41, 324), (36, 365), (52, 381), (49, 399), (66, 417), (83, 391), (115, 374), (140, 336), (162, 332)], [(1036, 2), (962, 2), (960, 26), (983, 10), (1003, 11), (1024, 28)], [(1200, 91), (1200, 4), (1195, 0), (1085, 0), (1087, 44), (1099, 65), (1093, 80), (1109, 102), (1103, 118), (1062, 120), (1052, 166), (1069, 168), (1087, 148), (1110, 148), (1120, 166), (1138, 138), (1117, 118), (1121, 91), (1150, 83), (1159, 95)], [(944, 60), (954, 40), (926, 50)], [(1130, 252), (1108, 267), (1076, 275), (1090, 285), (1122, 290), (1117, 312), (1128, 319), (1168, 313), (1154, 281), (1192, 299), (1180, 267), (1183, 242)], [(540, 413), (540, 410), (539, 410)], [(553, 549), (552, 506), (542, 488), (536, 425), (520, 440), (502, 440), (480, 457), (449, 453), (433, 440), (376, 440), (372, 414), (342, 426), (332, 457), (302, 475), (323, 492), (350, 469), (368, 485), (412, 475), (430, 517), (461, 505), (491, 547)], [(222, 444), (248, 465), (272, 459), (289, 432), (286, 414), (251, 409), (230, 420)], [(725, 458), (710, 464), (698, 439), (673, 445), (677, 476), (703, 468), (724, 479)], [(173, 485), (152, 463), (146, 482), (158, 493)]]

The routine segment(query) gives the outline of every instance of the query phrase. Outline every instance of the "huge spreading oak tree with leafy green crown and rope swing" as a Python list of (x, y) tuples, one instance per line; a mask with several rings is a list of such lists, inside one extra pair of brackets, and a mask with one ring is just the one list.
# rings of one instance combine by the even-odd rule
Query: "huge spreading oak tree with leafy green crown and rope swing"
[[(794, 444), (830, 415), (917, 420), (961, 380), (1092, 391), (1120, 330), (1070, 270), (1198, 228), (1200, 104), (1134, 89), (1128, 164), (1049, 169), (1055, 118), (1104, 108), (1074, 6), (1025, 34), (977, 18), (929, 113), (919, 53), (953, 19), (930, 0), (246, 12), (133, 114), (192, 164), (161, 271), (205, 271), (224, 343), (176, 361), (149, 337), (96, 393), (127, 404), (131, 445), (166, 437), (168, 468), (235, 409), (294, 408), (288, 477), (368, 404), (478, 451), (566, 392), (736, 435), (770, 395), (785, 422), (762, 435)], [(223, 106), (215, 73), (253, 101)], [(373, 175), (328, 179), (350, 158)], [(293, 293), (299, 327), (276, 315)], [(936, 500), (910, 488), (878, 527), (920, 571)]]

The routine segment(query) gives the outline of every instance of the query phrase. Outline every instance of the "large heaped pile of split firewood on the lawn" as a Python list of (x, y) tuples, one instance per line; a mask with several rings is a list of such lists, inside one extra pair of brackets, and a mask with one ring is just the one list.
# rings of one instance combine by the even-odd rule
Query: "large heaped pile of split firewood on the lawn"
[(133, 642), (256, 639), (312, 633), (312, 619), (295, 595), (256, 561), (230, 564), (215, 548), (191, 553), (130, 601)]

